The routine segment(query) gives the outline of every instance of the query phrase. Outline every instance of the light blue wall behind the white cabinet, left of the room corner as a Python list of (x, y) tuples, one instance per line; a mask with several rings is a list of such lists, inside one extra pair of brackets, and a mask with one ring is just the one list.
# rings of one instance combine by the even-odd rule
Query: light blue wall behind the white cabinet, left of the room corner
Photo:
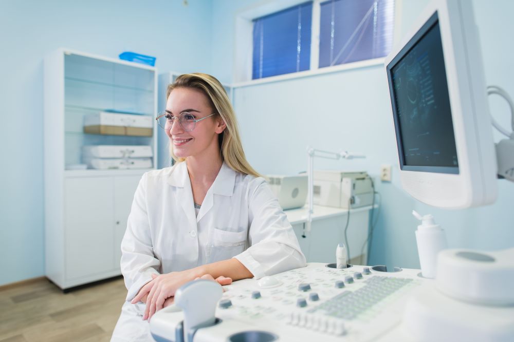
[(67, 47), (211, 72), (211, 0), (0, 3), (0, 285), (44, 274), (43, 58)]

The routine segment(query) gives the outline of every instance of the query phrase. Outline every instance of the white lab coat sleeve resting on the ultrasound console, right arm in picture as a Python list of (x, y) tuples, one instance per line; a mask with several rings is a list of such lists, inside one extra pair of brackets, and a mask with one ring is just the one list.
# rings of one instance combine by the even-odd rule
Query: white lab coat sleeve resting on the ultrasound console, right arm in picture
[(305, 267), (295, 232), (266, 181), (255, 178), (248, 190), (250, 248), (235, 258), (256, 279)]

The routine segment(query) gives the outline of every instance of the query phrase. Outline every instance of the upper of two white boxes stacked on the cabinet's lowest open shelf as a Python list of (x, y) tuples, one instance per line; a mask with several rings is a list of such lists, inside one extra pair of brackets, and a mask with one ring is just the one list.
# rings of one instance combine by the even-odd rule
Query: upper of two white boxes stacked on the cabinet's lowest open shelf
[(82, 146), (84, 158), (143, 158), (153, 157), (148, 145), (91, 145)]

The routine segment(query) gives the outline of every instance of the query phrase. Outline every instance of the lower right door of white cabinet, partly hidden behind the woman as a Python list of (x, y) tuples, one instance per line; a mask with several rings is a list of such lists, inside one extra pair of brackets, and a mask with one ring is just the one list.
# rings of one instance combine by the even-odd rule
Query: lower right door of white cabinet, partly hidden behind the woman
[(114, 268), (120, 269), (121, 240), (127, 227), (134, 193), (141, 176), (117, 176), (114, 178)]

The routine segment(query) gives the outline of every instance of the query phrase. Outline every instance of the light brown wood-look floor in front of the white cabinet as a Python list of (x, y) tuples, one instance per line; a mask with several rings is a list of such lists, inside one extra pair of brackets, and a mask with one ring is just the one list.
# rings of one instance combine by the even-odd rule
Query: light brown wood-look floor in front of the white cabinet
[(0, 288), (0, 342), (109, 341), (126, 293), (123, 279), (66, 294), (43, 278)]

